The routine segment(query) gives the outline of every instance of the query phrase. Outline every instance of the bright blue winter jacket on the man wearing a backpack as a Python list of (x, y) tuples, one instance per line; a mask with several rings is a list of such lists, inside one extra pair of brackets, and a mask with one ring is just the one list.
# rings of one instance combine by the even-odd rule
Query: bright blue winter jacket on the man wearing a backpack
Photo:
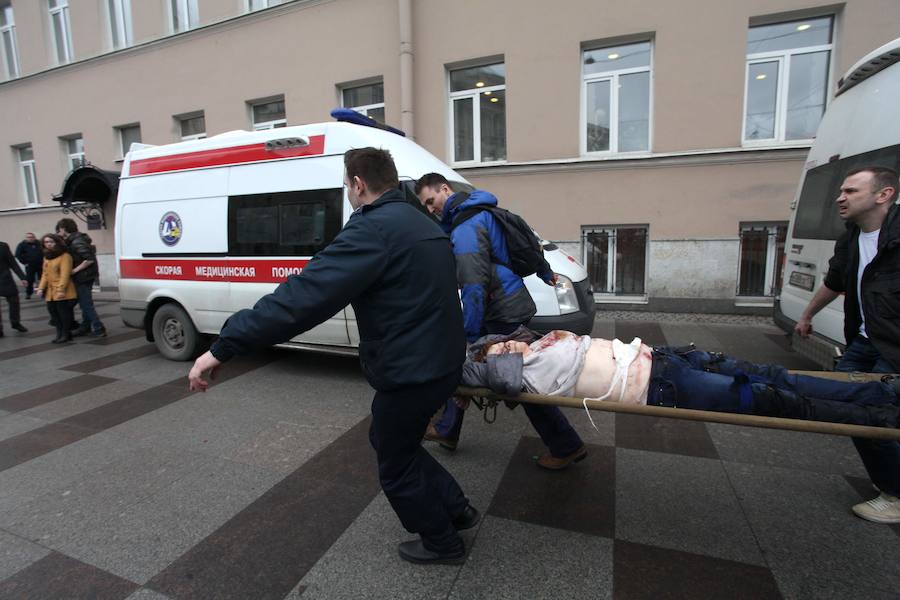
[(506, 266), (506, 235), (490, 211), (481, 211), (453, 227), (460, 213), (476, 206), (497, 206), (497, 198), (484, 190), (475, 190), (468, 197), (454, 194), (447, 199), (441, 219), (441, 227), (453, 242), (463, 323), (470, 342), (483, 335), (485, 321), (522, 324), (537, 312), (522, 278)]

